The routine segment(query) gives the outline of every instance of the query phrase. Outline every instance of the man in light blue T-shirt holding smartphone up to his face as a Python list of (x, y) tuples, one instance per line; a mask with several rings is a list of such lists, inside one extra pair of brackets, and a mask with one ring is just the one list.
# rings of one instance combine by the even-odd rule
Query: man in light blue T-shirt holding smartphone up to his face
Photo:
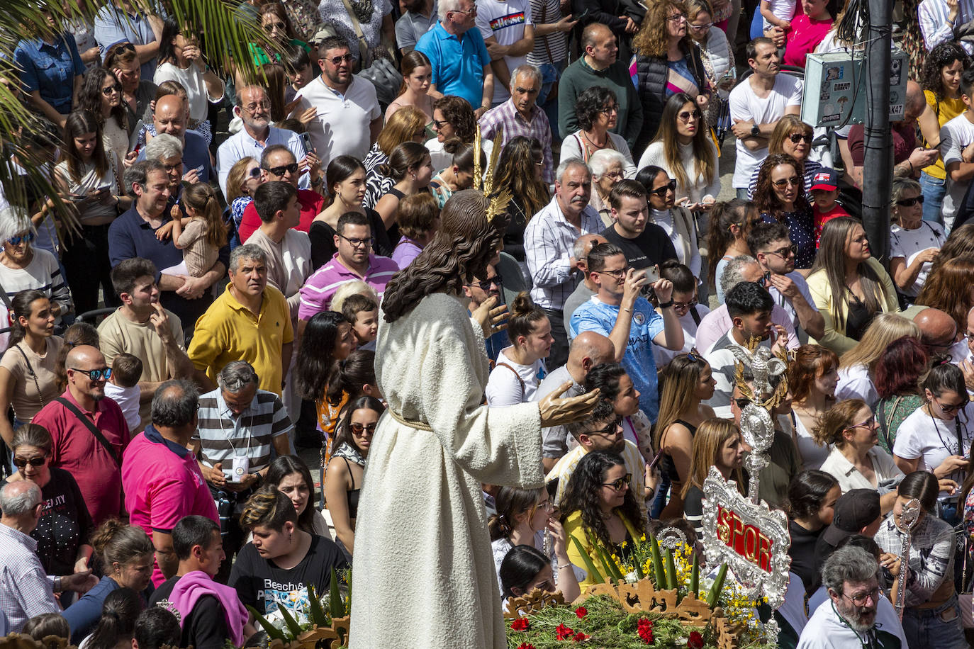
[(658, 312), (640, 295), (647, 285), (646, 272), (629, 267), (622, 250), (612, 243), (593, 247), (588, 253), (588, 275), (598, 293), (576, 309), (570, 333), (575, 338), (583, 331), (594, 331), (612, 341), (616, 350), (613, 360), (622, 364), (640, 393), (640, 410), (650, 421), (656, 421), (659, 397), (652, 344), (673, 351), (682, 349), (683, 327), (673, 311), (670, 280), (658, 279), (653, 284)]

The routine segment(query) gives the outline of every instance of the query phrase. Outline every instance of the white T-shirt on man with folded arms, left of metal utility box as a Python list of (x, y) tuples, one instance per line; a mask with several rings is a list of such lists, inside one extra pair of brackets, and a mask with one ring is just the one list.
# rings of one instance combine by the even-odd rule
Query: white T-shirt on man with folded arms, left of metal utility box
[[(789, 106), (802, 105), (801, 79), (788, 74), (778, 74), (774, 78), (774, 87), (764, 99), (758, 97), (751, 88), (750, 80), (745, 80), (731, 90), (731, 120), (743, 120), (754, 124), (770, 124), (777, 122), (784, 116)], [(737, 140), (737, 162), (734, 164), (733, 180), (735, 189), (747, 187), (751, 173), (760, 162), (768, 158), (768, 148), (751, 151), (744, 143)]]

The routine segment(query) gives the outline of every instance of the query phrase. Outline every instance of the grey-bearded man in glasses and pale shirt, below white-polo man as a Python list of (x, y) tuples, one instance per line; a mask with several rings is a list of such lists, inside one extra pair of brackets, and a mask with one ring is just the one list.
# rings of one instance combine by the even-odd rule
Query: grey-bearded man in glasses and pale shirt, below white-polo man
[[(271, 126), (271, 100), (267, 97), (267, 90), (261, 86), (244, 86), (237, 91), (237, 105), (234, 115), (238, 116), (244, 127), (228, 137), (220, 148), (216, 150), (216, 168), (220, 178), (220, 191), (227, 196), (227, 176), (230, 168), (246, 157), (260, 160), (267, 147), (281, 144), (294, 154), (294, 160), (300, 161), (299, 166), (307, 170), (309, 164), (318, 166), (318, 158), (312, 152), (306, 152), (301, 138), (293, 130)], [(318, 171), (314, 178), (308, 173), (302, 173), (298, 180), (298, 187), (306, 190), (314, 187), (320, 193), (323, 176)]]

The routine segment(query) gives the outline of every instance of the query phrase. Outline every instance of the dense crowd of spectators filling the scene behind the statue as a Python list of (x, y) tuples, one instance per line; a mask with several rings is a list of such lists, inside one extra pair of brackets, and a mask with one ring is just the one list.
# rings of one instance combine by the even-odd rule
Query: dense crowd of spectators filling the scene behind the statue
[[(884, 251), (856, 218), (865, 126), (801, 118), (806, 56), (861, 49), (861, 3), (740, 4), (244, 0), (267, 39), (233, 69), (127, 0), (24, 36), (0, 79), (36, 116), (3, 143), (0, 635), (256, 646), (246, 607), (376, 570), (356, 556), (397, 530), (356, 529), (368, 507), (426, 524), (423, 474), (396, 466), (435, 482), (444, 460), (425, 433), (396, 456), (393, 420), (449, 427), (445, 461), (475, 465), (467, 527), (424, 530), (490, 539), (493, 569), (454, 577), (575, 599), (648, 525), (699, 551), (711, 467), (746, 488), (734, 350), (760, 344), (789, 357), (760, 481), (806, 601), (785, 636), (968, 646), (974, 8), (904, 3)], [(397, 92), (354, 74), (377, 66)], [(490, 250), (447, 223), (482, 218), (484, 173), (512, 195)], [(458, 336), (464, 367), (408, 327)], [(465, 441), (480, 419), (403, 411), (453, 387), (521, 430), (530, 469)], [(360, 500), (370, 481), (414, 497)]]

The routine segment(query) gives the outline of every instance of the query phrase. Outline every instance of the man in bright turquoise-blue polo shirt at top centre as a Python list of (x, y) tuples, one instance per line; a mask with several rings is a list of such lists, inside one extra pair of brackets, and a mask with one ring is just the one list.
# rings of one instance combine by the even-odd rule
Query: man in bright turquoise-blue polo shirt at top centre
[(440, 0), (437, 13), (439, 22), (416, 44), (432, 65), (430, 95), (463, 97), (479, 119), (491, 107), (494, 73), (484, 39), (473, 29), (477, 6), (473, 0)]

